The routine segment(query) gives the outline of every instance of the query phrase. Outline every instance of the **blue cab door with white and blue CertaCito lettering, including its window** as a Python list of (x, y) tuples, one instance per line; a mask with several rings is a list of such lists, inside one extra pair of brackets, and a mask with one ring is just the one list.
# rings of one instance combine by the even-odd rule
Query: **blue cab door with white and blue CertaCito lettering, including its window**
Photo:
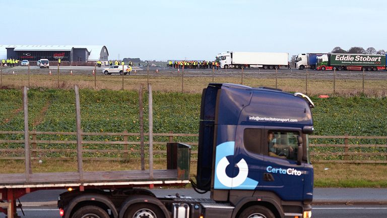
[(260, 184), (264, 191), (273, 191), (283, 200), (302, 200), (304, 164), (297, 165), (299, 130), (265, 129), (267, 138)]

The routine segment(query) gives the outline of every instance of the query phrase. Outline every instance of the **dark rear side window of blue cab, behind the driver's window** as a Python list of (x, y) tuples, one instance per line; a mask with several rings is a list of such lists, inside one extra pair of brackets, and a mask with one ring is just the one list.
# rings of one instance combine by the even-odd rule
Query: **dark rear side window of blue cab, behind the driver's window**
[(262, 129), (245, 129), (243, 132), (244, 148), (256, 154), (262, 154)]

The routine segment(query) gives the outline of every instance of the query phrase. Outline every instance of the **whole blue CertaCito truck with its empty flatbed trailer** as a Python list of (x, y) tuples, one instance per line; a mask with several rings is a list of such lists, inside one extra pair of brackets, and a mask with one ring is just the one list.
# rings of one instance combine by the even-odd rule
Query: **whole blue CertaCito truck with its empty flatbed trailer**
[(1, 211), (13, 218), (20, 196), (66, 188), (58, 200), (66, 218), (311, 217), (313, 106), (301, 93), (209, 84), (202, 95), (198, 170), (191, 184), (199, 192), (210, 191), (210, 199), (156, 197), (145, 188), (188, 183), (190, 147), (168, 143), (167, 169), (152, 173), (1, 174)]

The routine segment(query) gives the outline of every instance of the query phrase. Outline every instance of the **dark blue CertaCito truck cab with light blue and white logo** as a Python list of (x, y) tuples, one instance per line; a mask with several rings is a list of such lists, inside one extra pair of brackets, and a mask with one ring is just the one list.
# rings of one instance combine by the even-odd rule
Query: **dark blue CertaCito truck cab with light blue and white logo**
[(311, 217), (311, 107), (306, 95), (279, 89), (203, 90), (194, 187), (233, 207), (219, 217)]

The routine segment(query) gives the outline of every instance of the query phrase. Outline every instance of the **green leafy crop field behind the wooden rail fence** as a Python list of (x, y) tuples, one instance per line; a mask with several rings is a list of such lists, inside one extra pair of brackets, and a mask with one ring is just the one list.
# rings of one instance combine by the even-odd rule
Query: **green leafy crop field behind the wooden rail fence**
[[(137, 91), (90, 90), (81, 89), (81, 127), (84, 132), (139, 132), (139, 96)], [(312, 109), (314, 118), (315, 135), (361, 135), (385, 136), (387, 135), (387, 97), (358, 96), (333, 96), (330, 98), (311, 97), (316, 107)], [(198, 133), (201, 95), (197, 93), (159, 92), (153, 93), (153, 118), (155, 133)], [(28, 91), (28, 110), (30, 130), (75, 132), (75, 94), (74, 90), (32, 88)], [(148, 132), (148, 102), (144, 94), (145, 132)], [(24, 113), (22, 92), (20, 89), (0, 89), (0, 131), (23, 131)], [(0, 139), (23, 139), (23, 135), (0, 135)], [(42, 135), (41, 140), (76, 140), (74, 135)], [(84, 136), (84, 140), (122, 140), (122, 136)], [(137, 136), (130, 136), (128, 140), (137, 140)], [(146, 139), (147, 140), (147, 139)], [(155, 137), (155, 141), (168, 141), (168, 137)], [(197, 142), (197, 137), (175, 137), (181, 142)], [(342, 139), (340, 139), (342, 140)], [(311, 139), (310, 143), (338, 143), (339, 139)], [(385, 140), (363, 139), (350, 140), (351, 143), (378, 143), (385, 144)], [(75, 144), (38, 144), (38, 148), (76, 148)], [(87, 149), (122, 149), (123, 145), (112, 144), (87, 144)], [(23, 144), (3, 143), (0, 148), (23, 148)], [(138, 145), (131, 145), (139, 149)], [(165, 149), (163, 145), (156, 145), (155, 149)], [(197, 148), (193, 148), (194, 150)], [(313, 148), (312, 151), (337, 151), (338, 148)], [(385, 149), (373, 149), (372, 152), (385, 152)], [(340, 150), (340, 149), (339, 149)], [(6, 155), (2, 153), (2, 155)], [(9, 155), (9, 154), (7, 154)], [(21, 154), (13, 154), (23, 156)], [(86, 157), (121, 157), (122, 153), (85, 153)], [(71, 156), (76, 154), (63, 154), (52, 152), (47, 154), (52, 157)], [(162, 156), (162, 155), (161, 155)], [(316, 157), (329, 159), (332, 157)], [(336, 157), (335, 157), (336, 158)], [(339, 157), (340, 158), (340, 157)], [(369, 157), (373, 158), (373, 157)], [(384, 156), (378, 157), (385, 159)], [(313, 160), (313, 159), (312, 159)], [(333, 163), (330, 163), (332, 165)], [(334, 165), (334, 164), (333, 164)], [(324, 164), (316, 165), (316, 185), (340, 187), (385, 187), (385, 178), (371, 181), (358, 178), (327, 177)], [(339, 165), (337, 165), (339, 166)], [(361, 166), (361, 165), (354, 165)], [(377, 166), (374, 165), (377, 171)], [(330, 167), (334, 169), (335, 167)], [(339, 167), (340, 168), (340, 167)], [(361, 167), (360, 167), (361, 168)], [(383, 170), (384, 168), (380, 168)], [(321, 172), (320, 172), (321, 171)], [(330, 172), (335, 172), (331, 170)], [(195, 173), (195, 172), (191, 172)], [(343, 172), (341, 172), (343, 173)], [(329, 174), (328, 174), (329, 175)], [(361, 178), (360, 178), (361, 179)], [(336, 182), (335, 182), (336, 181)], [(337, 181), (341, 181), (340, 183)], [(336, 185), (335, 185), (336, 184)], [(353, 185), (355, 184), (355, 185)]]

